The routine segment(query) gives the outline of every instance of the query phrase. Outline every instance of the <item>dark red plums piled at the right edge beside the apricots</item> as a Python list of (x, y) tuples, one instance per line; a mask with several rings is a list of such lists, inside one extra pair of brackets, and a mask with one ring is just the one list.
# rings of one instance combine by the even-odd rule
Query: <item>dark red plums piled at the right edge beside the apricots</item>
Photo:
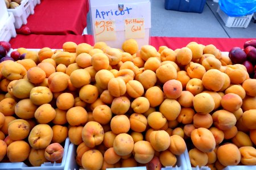
[(233, 47), (229, 51), (229, 57), (234, 64), (244, 65), (250, 78), (256, 78), (256, 40), (246, 41), (243, 49)]

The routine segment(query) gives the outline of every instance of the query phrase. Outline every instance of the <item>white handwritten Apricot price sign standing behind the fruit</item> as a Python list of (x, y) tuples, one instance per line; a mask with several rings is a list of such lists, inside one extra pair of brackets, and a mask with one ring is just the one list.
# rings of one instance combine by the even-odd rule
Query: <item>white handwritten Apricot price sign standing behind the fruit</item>
[[(118, 4), (123, 5), (119, 10)], [(103, 40), (113, 48), (122, 48), (122, 42), (126, 39), (136, 39), (141, 48), (149, 44), (151, 28), (151, 2), (150, 0), (90, 0), (90, 14), (92, 20), (94, 42), (102, 40), (98, 38), (95, 27), (96, 21), (113, 22), (114, 31), (111, 34), (105, 33)], [(135, 23), (134, 20), (140, 23)], [(143, 22), (143, 24), (142, 24)], [(115, 35), (115, 38), (112, 37)], [(110, 37), (111, 36), (111, 37)], [(103, 41), (102, 40), (102, 41)]]

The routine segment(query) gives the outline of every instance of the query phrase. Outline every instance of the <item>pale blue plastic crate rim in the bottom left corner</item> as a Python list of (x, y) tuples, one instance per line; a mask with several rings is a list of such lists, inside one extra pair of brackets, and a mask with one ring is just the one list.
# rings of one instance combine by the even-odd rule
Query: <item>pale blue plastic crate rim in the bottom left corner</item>
[(64, 145), (64, 154), (61, 163), (51, 163), (51, 162), (46, 162), (42, 164), (40, 167), (28, 167), (23, 162), (16, 162), (16, 163), (0, 163), (0, 170), (2, 169), (10, 169), (10, 170), (60, 170), (64, 169), (65, 164), (67, 164), (67, 160), (70, 160), (70, 158), (67, 158), (67, 156), (71, 156), (68, 154), (68, 149), (69, 149), (70, 141), (69, 138), (65, 140), (65, 145)]

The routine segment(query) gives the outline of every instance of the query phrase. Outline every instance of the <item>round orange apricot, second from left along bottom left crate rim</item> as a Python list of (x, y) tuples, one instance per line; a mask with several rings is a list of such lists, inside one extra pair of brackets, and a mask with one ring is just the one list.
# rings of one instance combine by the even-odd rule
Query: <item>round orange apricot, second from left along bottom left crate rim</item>
[(7, 147), (10, 162), (23, 162), (30, 154), (30, 146), (25, 141), (14, 141)]

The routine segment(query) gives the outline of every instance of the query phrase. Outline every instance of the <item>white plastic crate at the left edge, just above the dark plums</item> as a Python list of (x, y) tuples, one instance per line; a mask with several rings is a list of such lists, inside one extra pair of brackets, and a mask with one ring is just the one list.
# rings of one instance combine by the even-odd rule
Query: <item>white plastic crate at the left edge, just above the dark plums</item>
[(5, 20), (5, 22), (2, 22), (0, 24), (0, 41), (7, 41), (9, 42), (11, 37), (16, 37), (16, 31), (14, 27), (14, 16), (13, 13), (9, 12), (8, 18)]

